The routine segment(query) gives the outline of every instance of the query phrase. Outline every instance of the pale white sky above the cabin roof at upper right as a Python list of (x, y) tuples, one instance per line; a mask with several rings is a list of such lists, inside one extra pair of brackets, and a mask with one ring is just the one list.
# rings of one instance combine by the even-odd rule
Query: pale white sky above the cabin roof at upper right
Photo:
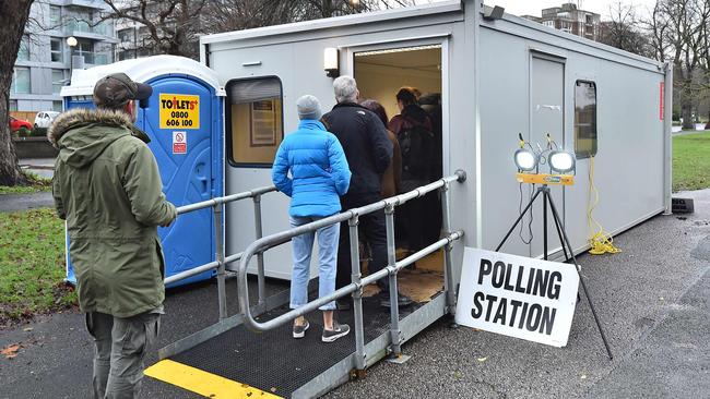
[[(618, 0), (581, 0), (581, 9), (585, 11), (595, 12), (602, 15), (602, 20), (608, 20), (610, 5), (616, 4)], [(541, 16), (542, 9), (551, 7), (559, 7), (568, 0), (484, 0), (487, 5), (500, 5), (506, 9), (506, 12), (514, 15), (535, 15)], [(571, 1), (577, 3), (577, 0)], [(655, 0), (622, 0), (622, 4), (630, 4), (636, 7), (637, 15), (642, 16), (647, 14), (647, 9), (651, 9), (655, 4)]]

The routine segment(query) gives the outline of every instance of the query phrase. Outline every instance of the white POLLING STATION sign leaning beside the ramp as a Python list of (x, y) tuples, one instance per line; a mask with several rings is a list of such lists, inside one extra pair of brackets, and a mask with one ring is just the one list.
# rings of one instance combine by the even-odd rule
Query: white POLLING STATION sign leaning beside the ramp
[(466, 247), (457, 323), (565, 347), (578, 285), (573, 265)]

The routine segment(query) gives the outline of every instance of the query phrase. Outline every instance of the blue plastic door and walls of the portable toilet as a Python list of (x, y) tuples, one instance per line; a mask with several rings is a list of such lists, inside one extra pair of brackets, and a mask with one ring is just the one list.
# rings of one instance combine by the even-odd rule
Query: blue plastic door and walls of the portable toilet
[[(222, 105), (214, 90), (186, 75), (159, 76), (150, 82), (153, 96), (149, 107), (139, 109), (135, 124), (151, 137), (153, 152), (163, 180), (163, 192), (175, 206), (192, 204), (222, 191)], [(197, 95), (200, 101), (200, 128), (175, 129), (186, 132), (186, 154), (173, 154), (174, 129), (159, 128), (159, 94)], [(66, 109), (93, 108), (87, 101), (67, 99)], [(158, 228), (165, 253), (166, 277), (214, 261), (214, 220), (211, 208), (181, 215), (167, 228)], [(209, 279), (205, 271), (168, 287)], [(75, 283), (71, 262), (67, 280)]]

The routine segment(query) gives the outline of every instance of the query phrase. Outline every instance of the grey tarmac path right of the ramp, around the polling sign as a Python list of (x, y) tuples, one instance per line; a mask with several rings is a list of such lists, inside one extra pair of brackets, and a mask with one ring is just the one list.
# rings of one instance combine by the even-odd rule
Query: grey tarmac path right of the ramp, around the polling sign
[(710, 191), (679, 195), (695, 215), (655, 217), (614, 240), (620, 254), (580, 257), (614, 361), (582, 299), (566, 348), (440, 322), (404, 346), (409, 362), (327, 397), (709, 398)]

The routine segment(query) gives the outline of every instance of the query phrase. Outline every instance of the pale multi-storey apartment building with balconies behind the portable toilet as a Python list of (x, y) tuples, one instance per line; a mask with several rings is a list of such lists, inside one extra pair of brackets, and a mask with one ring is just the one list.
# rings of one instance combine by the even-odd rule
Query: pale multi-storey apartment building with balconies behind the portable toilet
[[(59, 90), (70, 68), (114, 62), (114, 23), (99, 23), (107, 11), (102, 0), (35, 1), (12, 75), (11, 111), (61, 111)], [(69, 37), (76, 46), (68, 45)]]

